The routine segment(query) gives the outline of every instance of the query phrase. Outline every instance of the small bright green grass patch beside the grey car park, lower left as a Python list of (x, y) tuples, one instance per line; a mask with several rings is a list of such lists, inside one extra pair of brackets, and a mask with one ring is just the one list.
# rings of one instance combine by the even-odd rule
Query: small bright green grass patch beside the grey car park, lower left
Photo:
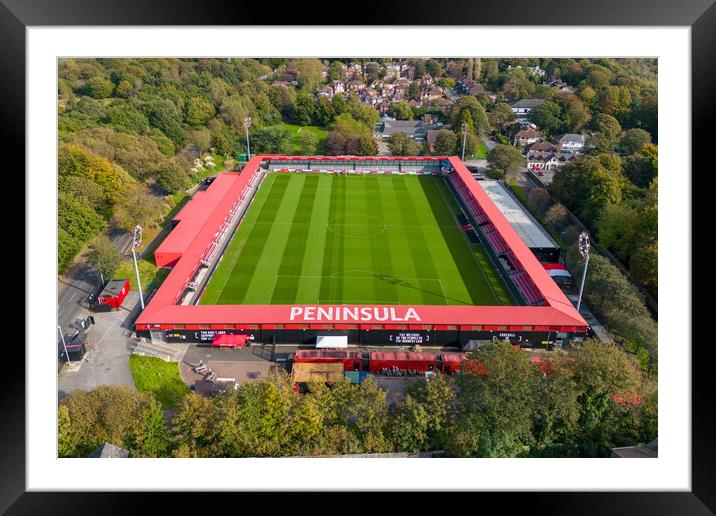
[(164, 408), (175, 409), (189, 388), (179, 375), (179, 364), (161, 358), (132, 355), (129, 357), (134, 385), (140, 392), (151, 392)]

